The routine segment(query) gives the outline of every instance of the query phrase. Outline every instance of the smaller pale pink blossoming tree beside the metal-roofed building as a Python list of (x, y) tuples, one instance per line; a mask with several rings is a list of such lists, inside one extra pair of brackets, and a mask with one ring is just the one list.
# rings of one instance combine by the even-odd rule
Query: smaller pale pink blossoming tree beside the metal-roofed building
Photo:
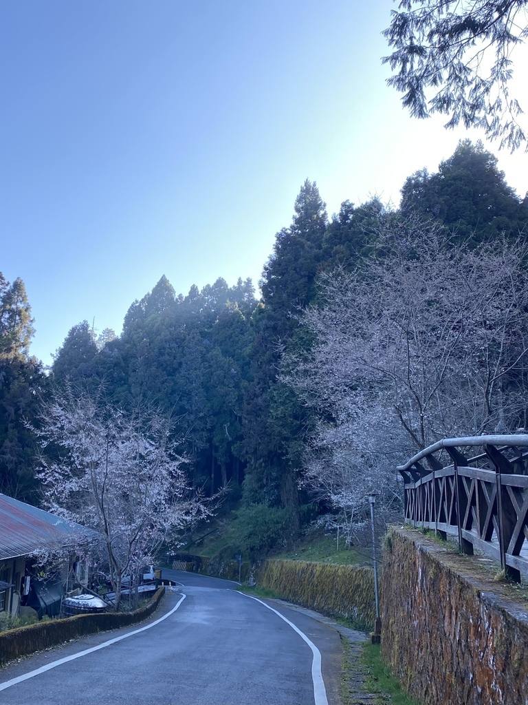
[(172, 431), (170, 419), (143, 405), (125, 413), (101, 393), (68, 386), (35, 429), (47, 508), (98, 533), (92, 565), (111, 581), (116, 610), (125, 576), (137, 582), (163, 541), (209, 513), (187, 483)]

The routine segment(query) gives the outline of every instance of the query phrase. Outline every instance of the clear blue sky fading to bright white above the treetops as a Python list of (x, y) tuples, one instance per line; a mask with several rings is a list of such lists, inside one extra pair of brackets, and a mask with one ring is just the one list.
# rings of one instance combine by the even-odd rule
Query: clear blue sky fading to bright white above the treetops
[[(449, 157), (465, 133), (412, 120), (385, 85), (392, 7), (1, 3), (0, 271), (25, 282), (32, 353), (51, 362), (83, 319), (119, 333), (162, 274), (183, 293), (257, 283), (306, 178), (332, 213), (397, 203)], [(499, 159), (524, 195), (526, 155)]]

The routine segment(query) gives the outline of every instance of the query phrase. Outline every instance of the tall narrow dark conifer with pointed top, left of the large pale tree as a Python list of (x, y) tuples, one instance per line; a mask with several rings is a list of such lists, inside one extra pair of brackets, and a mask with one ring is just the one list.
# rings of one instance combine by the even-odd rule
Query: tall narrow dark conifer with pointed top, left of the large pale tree
[(294, 530), (306, 412), (291, 389), (277, 381), (277, 369), (282, 347), (298, 329), (294, 314), (315, 296), (327, 228), (325, 205), (315, 182), (307, 179), (296, 198), (291, 226), (276, 235), (260, 283), (263, 306), (253, 317), (252, 380), (244, 407), (246, 502), (288, 508)]

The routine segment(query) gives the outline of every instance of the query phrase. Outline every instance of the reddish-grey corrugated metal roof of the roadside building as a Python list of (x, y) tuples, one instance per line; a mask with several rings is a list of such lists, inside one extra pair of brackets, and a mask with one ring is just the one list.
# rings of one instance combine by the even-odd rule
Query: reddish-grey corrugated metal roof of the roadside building
[(75, 535), (90, 529), (0, 494), (0, 559), (27, 556), (39, 548), (68, 545)]

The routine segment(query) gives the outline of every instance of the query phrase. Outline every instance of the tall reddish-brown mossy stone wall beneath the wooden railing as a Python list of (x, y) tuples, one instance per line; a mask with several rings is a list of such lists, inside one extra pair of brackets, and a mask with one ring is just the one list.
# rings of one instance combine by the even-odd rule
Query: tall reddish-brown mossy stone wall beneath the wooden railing
[(420, 532), (391, 529), (382, 657), (422, 705), (527, 705), (528, 610), (513, 587)]

